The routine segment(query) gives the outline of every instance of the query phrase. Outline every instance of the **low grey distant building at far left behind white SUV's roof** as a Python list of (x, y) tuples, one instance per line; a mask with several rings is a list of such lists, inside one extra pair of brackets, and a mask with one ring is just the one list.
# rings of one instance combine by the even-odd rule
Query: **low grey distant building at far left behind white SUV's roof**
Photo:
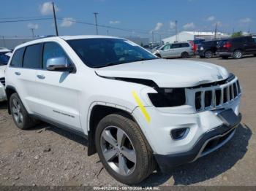
[(13, 50), (19, 44), (23, 44), (24, 42), (29, 42), (33, 40), (29, 37), (4, 37), (0, 36), (0, 47), (7, 47), (10, 50)]

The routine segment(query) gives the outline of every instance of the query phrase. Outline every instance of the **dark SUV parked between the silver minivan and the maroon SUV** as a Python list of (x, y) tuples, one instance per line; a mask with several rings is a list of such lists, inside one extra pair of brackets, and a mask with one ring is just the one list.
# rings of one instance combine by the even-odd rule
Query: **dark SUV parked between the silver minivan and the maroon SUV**
[(216, 55), (217, 44), (219, 42), (219, 40), (213, 40), (198, 44), (196, 55), (199, 55), (200, 58), (212, 58), (214, 55)]

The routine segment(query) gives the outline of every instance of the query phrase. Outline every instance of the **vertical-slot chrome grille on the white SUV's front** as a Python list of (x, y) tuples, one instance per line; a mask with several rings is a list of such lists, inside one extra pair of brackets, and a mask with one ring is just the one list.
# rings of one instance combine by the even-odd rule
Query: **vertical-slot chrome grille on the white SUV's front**
[(195, 90), (195, 109), (203, 111), (217, 109), (222, 104), (235, 100), (241, 94), (241, 87), (238, 80), (228, 82), (224, 85), (205, 87), (202, 90)]

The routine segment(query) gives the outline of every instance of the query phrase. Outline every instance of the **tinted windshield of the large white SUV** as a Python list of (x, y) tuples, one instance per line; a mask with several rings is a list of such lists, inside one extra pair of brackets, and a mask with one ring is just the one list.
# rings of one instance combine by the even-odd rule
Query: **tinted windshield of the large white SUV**
[(126, 39), (75, 39), (67, 43), (83, 63), (91, 68), (157, 59), (138, 44)]

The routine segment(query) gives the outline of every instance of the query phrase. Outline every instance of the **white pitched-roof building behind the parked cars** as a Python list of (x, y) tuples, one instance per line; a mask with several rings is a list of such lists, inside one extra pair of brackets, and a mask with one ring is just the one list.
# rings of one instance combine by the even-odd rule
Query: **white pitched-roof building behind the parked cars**
[[(167, 37), (165, 39), (162, 39), (162, 41), (166, 43), (173, 43), (173, 42), (187, 42), (189, 40), (195, 40), (195, 39), (214, 39), (214, 32), (196, 32), (196, 31), (182, 31), (180, 33), (170, 37)], [(219, 38), (225, 38), (229, 37), (227, 34), (217, 33), (216, 35), (217, 39)]]

